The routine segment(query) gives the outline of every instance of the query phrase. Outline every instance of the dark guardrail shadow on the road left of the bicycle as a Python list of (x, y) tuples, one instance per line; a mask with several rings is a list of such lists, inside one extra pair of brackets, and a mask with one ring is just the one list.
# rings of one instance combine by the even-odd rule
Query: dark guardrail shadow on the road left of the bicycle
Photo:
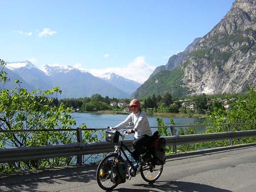
[(96, 180), (96, 164), (84, 166), (57, 167), (44, 170), (0, 174), (0, 191), (35, 192), (43, 184), (58, 182), (83, 182)]

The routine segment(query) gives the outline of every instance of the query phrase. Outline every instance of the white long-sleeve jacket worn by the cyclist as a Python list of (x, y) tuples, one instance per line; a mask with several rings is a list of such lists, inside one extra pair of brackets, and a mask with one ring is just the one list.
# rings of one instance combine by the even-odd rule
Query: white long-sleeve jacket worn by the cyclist
[(125, 128), (128, 126), (129, 122), (132, 122), (134, 124), (134, 129), (137, 129), (134, 135), (135, 138), (138, 138), (145, 134), (149, 136), (152, 135), (147, 114), (144, 111), (139, 111), (136, 114), (130, 113), (126, 120), (115, 126), (115, 128), (117, 128), (118, 130)]

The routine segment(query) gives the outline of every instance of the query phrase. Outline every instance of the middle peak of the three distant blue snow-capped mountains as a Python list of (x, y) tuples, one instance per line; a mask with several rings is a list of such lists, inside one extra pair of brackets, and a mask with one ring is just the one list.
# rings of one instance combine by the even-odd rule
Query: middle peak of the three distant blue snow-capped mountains
[(89, 97), (94, 94), (117, 98), (130, 97), (110, 83), (72, 66), (45, 65), (43, 71), (52, 79), (54, 86), (61, 88), (62, 95), (60, 98)]

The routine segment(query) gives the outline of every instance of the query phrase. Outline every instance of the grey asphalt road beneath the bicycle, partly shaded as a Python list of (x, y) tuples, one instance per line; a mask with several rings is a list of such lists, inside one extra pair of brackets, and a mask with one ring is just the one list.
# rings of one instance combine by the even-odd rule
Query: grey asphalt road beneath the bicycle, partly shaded
[[(1, 192), (102, 192), (96, 165), (0, 174)], [(140, 175), (113, 192), (256, 192), (256, 144), (167, 157), (154, 184)]]

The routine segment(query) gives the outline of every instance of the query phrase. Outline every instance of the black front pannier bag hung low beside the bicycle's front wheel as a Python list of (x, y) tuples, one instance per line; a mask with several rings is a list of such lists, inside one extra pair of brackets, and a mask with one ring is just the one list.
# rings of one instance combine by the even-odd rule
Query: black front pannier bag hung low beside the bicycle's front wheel
[(111, 167), (111, 181), (116, 184), (126, 182), (127, 163), (116, 162)]

